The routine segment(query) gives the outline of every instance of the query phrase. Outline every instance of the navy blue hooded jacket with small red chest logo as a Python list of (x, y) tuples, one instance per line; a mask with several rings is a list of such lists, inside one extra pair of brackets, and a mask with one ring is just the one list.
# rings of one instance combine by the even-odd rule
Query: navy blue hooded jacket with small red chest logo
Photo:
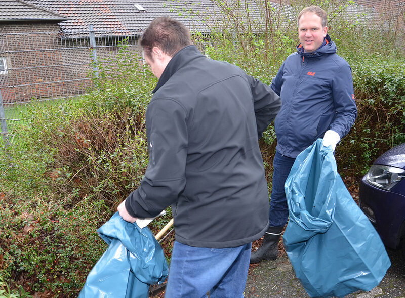
[(351, 68), (327, 44), (315, 52), (287, 57), (273, 78), (271, 88), (281, 97), (275, 119), (276, 150), (291, 158), (306, 149), (327, 130), (343, 138), (357, 117)]

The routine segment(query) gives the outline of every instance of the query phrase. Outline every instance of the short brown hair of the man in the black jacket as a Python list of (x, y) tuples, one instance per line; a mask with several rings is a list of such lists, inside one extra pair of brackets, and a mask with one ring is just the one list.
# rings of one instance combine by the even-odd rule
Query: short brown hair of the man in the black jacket
[(184, 47), (192, 45), (192, 41), (190, 31), (182, 23), (171, 17), (158, 17), (143, 32), (140, 44), (149, 58), (152, 58), (153, 47), (173, 57)]

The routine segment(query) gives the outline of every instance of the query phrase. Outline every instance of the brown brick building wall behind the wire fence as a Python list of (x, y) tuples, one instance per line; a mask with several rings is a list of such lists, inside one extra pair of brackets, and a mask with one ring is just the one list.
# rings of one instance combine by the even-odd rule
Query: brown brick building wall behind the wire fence
[[(114, 45), (105, 46), (110, 39), (96, 40), (98, 58), (117, 53)], [(140, 55), (137, 46), (131, 49)], [(65, 38), (57, 23), (0, 23), (0, 57), (9, 68), (0, 74), (3, 102), (74, 97), (92, 88), (88, 32)]]

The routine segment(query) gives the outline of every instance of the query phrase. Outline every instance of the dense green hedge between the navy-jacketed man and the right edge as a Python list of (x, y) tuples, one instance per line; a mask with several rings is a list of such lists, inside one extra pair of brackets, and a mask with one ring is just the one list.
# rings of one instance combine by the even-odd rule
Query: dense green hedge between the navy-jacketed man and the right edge
[(351, 63), (358, 117), (337, 152), (354, 173), (364, 174), (377, 156), (405, 142), (404, 66), (394, 55)]

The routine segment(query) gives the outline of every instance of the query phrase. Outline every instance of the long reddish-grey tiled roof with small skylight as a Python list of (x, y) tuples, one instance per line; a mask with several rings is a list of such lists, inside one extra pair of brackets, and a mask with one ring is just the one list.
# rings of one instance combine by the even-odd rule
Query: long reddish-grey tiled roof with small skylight
[[(207, 25), (193, 11), (212, 11), (210, 0), (173, 1), (173, 0), (29, 0), (31, 3), (55, 11), (70, 20), (60, 23), (64, 32), (88, 30), (89, 24), (100, 30), (129, 30), (141, 34), (150, 21), (158, 16), (167, 15), (179, 19), (190, 29), (204, 31)], [(140, 4), (145, 11), (139, 11)]]

